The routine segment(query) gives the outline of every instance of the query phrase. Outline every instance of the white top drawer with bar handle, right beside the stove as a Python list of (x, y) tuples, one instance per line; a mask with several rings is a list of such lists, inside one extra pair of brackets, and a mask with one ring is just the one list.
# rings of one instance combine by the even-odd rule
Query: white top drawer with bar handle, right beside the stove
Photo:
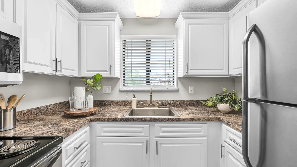
[[(70, 137), (70, 136), (69, 136)], [(67, 165), (90, 142), (89, 126), (63, 144), (63, 158)]]

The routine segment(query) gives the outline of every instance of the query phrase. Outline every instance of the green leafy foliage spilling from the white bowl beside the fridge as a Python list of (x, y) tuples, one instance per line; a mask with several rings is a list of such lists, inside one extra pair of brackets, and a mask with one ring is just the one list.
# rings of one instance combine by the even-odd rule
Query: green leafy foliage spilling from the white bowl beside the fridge
[(230, 108), (233, 108), (235, 111), (241, 110), (241, 98), (238, 99), (236, 91), (228, 92), (226, 88), (222, 88), (224, 93), (216, 94), (206, 101), (201, 101), (202, 104), (206, 106), (217, 107), (217, 104), (229, 104)]

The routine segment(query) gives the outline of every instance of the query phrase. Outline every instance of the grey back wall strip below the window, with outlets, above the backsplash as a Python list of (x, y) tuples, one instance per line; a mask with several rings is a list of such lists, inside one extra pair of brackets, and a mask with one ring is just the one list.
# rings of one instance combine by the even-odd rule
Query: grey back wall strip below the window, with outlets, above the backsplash
[[(137, 100), (149, 100), (149, 91), (119, 91), (119, 78), (102, 78), (103, 86), (111, 86), (111, 93), (103, 93), (103, 90), (93, 90), (94, 100), (132, 100), (136, 94)], [(206, 100), (214, 94), (221, 93), (222, 87), (227, 90), (235, 88), (235, 79), (230, 78), (201, 78), (188, 77), (178, 78), (178, 91), (153, 91), (152, 100)], [(75, 86), (85, 86), (78, 78), (70, 78), (70, 95)], [(189, 86), (194, 86), (194, 94), (189, 94)], [(86, 92), (88, 95), (88, 92)], [(126, 97), (128, 95), (128, 97)]]

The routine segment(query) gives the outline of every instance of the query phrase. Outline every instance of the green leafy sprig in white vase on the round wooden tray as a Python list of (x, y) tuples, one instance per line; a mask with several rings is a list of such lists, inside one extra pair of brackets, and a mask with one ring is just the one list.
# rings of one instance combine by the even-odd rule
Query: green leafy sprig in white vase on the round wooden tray
[[(93, 79), (80, 79), (83, 82), (85, 82), (85, 85), (87, 85), (87, 88), (85, 89), (86, 92), (89, 92), (89, 108), (94, 107), (94, 97), (92, 95), (93, 89), (94, 90), (100, 90), (102, 88), (102, 85), (99, 84), (101, 81), (102, 75), (97, 73), (93, 76)], [(90, 88), (91, 87), (91, 88)], [(91, 90), (90, 90), (91, 89)], [(91, 93), (90, 93), (91, 92)]]

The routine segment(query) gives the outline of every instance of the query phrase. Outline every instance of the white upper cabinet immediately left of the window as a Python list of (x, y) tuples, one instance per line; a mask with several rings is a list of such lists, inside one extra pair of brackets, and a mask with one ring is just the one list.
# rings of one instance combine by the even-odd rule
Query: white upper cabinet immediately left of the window
[[(90, 18), (92, 14), (87, 13), (85, 17)], [(104, 17), (106, 19), (90, 21), (79, 19), (82, 77), (96, 73), (104, 77), (120, 77), (120, 31), (123, 24), (117, 13), (102, 13), (97, 18)]]

